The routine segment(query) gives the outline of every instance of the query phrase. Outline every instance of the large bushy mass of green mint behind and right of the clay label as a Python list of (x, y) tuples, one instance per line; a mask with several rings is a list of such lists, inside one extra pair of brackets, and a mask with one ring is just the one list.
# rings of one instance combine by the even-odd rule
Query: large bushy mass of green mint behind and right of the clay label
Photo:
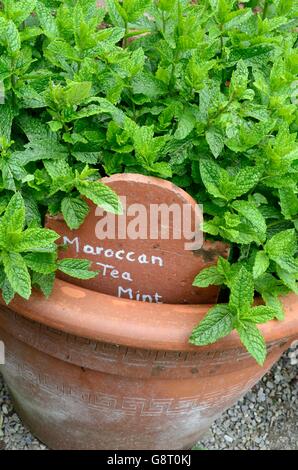
[(173, 181), (204, 205), (206, 236), (231, 246), (195, 279), (226, 303), (191, 342), (236, 329), (261, 364), (256, 325), (297, 293), (297, 3), (96, 3), (0, 3), (1, 207), (17, 193), (28, 229), (46, 212), (75, 229), (85, 198), (121, 211), (102, 176)]

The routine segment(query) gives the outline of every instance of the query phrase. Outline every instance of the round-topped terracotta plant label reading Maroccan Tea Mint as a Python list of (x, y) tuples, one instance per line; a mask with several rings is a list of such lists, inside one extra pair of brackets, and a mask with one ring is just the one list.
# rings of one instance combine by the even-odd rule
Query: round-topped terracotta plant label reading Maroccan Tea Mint
[[(228, 246), (203, 242), (200, 206), (172, 183), (137, 174), (102, 180), (120, 197), (123, 215), (107, 214), (89, 201), (90, 213), (78, 230), (62, 216), (47, 226), (66, 245), (61, 257), (87, 258), (99, 275), (88, 281), (68, 279), (120, 298), (154, 303), (211, 303), (218, 289), (192, 287), (201, 269), (226, 257)], [(64, 275), (59, 275), (66, 279)]]

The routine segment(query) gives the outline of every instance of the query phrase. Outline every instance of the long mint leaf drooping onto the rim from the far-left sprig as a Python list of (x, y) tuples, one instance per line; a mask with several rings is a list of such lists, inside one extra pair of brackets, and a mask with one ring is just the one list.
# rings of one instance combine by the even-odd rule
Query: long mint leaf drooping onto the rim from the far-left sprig
[(31, 279), (26, 263), (19, 253), (2, 253), (4, 271), (12, 289), (24, 299), (31, 295)]

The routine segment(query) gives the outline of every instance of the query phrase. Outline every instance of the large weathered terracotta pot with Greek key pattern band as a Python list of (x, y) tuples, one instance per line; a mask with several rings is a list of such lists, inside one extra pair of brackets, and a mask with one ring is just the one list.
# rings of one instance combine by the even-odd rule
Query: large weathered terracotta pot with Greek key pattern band
[(1, 372), (33, 434), (53, 449), (190, 448), (298, 336), (298, 297), (286, 320), (262, 326), (259, 367), (231, 334), (195, 348), (208, 305), (117, 299), (62, 280), (0, 309)]

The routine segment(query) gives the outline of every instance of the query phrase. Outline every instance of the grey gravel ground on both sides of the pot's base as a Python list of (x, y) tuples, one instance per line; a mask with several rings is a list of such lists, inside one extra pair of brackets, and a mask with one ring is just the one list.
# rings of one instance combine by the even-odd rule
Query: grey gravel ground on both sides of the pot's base
[[(198, 449), (298, 449), (298, 344), (212, 426)], [(21, 424), (0, 376), (0, 450), (45, 450)]]

